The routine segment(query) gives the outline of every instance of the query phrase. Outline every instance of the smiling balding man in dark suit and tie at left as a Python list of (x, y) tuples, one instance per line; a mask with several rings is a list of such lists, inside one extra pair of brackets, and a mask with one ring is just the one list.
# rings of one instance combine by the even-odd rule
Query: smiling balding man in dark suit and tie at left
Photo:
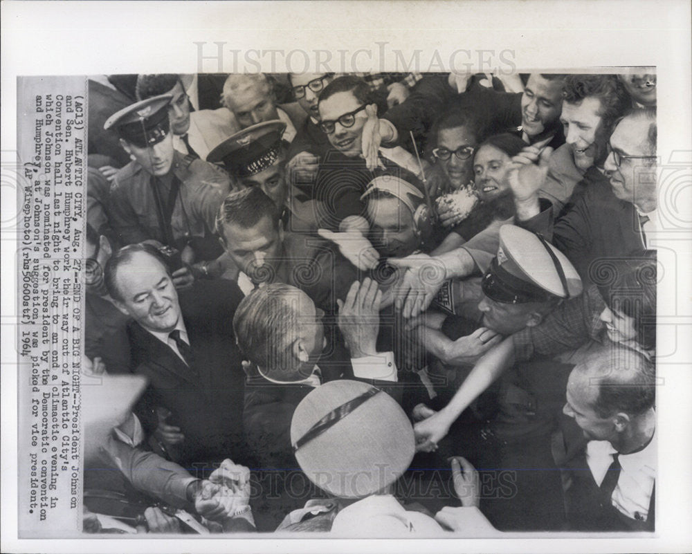
[(134, 320), (132, 367), (149, 379), (138, 409), (145, 429), (182, 464), (228, 456), (250, 463), (242, 441), (244, 374), (231, 331), (242, 298), (237, 286), (200, 282), (179, 298), (165, 261), (146, 244), (116, 252), (105, 281), (113, 303)]

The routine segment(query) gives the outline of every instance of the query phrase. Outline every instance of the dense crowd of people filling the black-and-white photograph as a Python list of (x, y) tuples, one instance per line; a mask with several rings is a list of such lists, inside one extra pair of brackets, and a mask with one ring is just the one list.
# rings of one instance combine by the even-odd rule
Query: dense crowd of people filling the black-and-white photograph
[(90, 77), (84, 531), (653, 531), (655, 107), (634, 69)]

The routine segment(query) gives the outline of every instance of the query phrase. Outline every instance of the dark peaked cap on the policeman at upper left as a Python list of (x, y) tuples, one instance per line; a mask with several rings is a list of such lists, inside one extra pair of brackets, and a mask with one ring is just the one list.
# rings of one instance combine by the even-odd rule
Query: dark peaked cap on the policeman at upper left
[(172, 94), (162, 94), (131, 104), (113, 113), (103, 128), (114, 127), (120, 138), (140, 148), (153, 146), (161, 142), (170, 129), (168, 104), (172, 98)]

